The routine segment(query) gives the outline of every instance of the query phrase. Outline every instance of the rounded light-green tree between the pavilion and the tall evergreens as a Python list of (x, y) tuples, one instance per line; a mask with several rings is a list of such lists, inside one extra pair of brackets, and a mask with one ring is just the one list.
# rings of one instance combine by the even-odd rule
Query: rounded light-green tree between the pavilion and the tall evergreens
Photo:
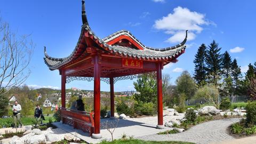
[(178, 94), (185, 94), (186, 100), (190, 99), (195, 94), (196, 85), (188, 71), (183, 71), (181, 73), (181, 75), (176, 79), (176, 85)]

